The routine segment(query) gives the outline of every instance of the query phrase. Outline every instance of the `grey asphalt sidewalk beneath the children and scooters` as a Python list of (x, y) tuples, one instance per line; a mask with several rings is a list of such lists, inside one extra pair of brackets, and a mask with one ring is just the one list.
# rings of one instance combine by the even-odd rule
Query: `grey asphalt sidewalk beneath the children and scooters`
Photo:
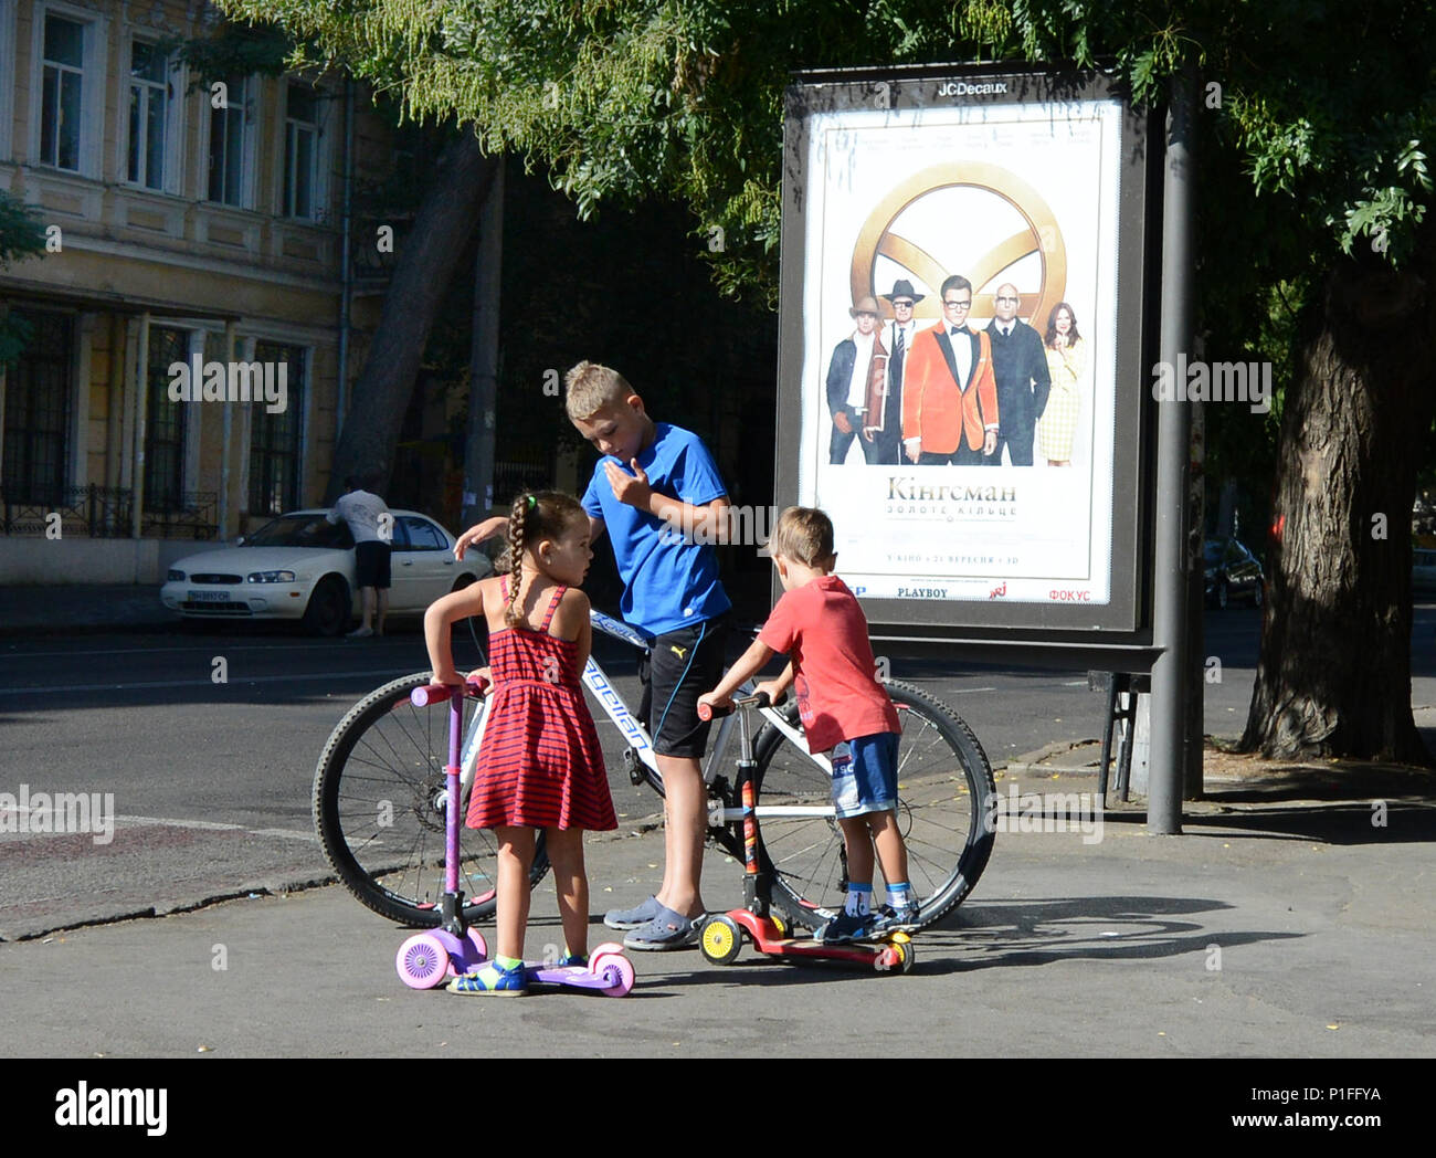
[[(406, 990), (406, 932), (327, 886), (0, 945), (7, 999), (26, 1010), (3, 1053), (866, 1056), (883, 1026), (908, 1056), (1433, 1056), (1436, 797), (1393, 772), (1377, 823), (1367, 786), (1348, 797), (1324, 776), (1298, 776), (1301, 799), (1269, 797), (1291, 774), (1223, 784), (1179, 838), (1119, 809), (1096, 842), (1004, 817), (972, 898), (916, 935), (900, 977), (745, 945), (727, 967), (696, 950), (630, 954), (623, 1000), (460, 1000)], [(1004, 803), (1094, 787), (998, 782)], [(661, 835), (635, 829), (586, 846), (590, 945), (615, 937), (603, 909), (658, 885)], [(741, 868), (721, 853), (705, 884), (711, 905), (741, 902)], [(546, 879), (530, 957), (559, 935)], [(833, 1014), (859, 1003), (862, 1019)]]

